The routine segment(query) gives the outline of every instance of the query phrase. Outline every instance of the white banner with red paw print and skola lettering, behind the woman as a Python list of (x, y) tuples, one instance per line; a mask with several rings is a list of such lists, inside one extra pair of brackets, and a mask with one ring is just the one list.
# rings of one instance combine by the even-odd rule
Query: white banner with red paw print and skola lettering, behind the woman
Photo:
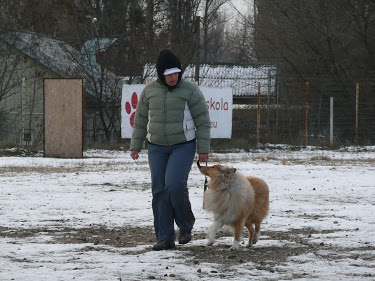
[[(136, 84), (122, 87), (121, 99), (121, 136), (131, 138), (135, 110), (142, 90), (146, 85)], [(211, 120), (211, 138), (227, 138), (232, 136), (232, 88), (212, 88), (200, 86)]]

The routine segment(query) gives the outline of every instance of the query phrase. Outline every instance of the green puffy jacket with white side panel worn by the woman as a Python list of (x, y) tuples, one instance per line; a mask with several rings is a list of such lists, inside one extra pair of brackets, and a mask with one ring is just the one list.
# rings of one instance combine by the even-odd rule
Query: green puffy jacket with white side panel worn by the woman
[(198, 153), (209, 153), (210, 128), (206, 101), (197, 85), (182, 79), (169, 91), (157, 80), (141, 93), (130, 150), (140, 151), (146, 137), (158, 145), (174, 145), (196, 138)]

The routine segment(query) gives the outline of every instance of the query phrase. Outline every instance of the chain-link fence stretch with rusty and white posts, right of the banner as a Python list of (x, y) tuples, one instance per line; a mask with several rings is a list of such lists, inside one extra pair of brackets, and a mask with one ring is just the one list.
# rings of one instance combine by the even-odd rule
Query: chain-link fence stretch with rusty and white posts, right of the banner
[[(259, 97), (249, 105), (235, 105), (232, 140), (226, 142), (242, 148), (265, 143), (374, 144), (375, 96), (367, 94), (370, 84), (361, 85), (353, 84), (351, 92), (337, 88), (318, 92), (306, 83), (290, 88), (293, 94)], [(361, 89), (366, 94), (361, 95)]]

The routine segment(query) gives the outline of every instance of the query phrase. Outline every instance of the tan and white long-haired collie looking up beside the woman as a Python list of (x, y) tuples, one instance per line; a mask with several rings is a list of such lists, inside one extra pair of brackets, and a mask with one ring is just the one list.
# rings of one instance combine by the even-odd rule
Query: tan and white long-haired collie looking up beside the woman
[(238, 250), (245, 226), (249, 231), (246, 247), (251, 247), (259, 240), (260, 225), (269, 211), (267, 183), (257, 177), (245, 177), (229, 166), (201, 166), (199, 161), (197, 165), (200, 172), (210, 178), (203, 200), (203, 208), (214, 214), (208, 231), (208, 245), (215, 243), (216, 232), (221, 226), (230, 225), (234, 229), (231, 250)]

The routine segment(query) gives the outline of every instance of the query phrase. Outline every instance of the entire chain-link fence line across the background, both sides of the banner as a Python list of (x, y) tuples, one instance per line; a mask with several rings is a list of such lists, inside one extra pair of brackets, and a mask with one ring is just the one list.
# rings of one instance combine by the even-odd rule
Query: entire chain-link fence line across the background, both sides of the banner
[[(297, 85), (297, 86), (296, 86)], [(252, 97), (247, 104), (233, 106), (232, 138), (213, 139), (213, 149), (250, 149), (257, 144), (305, 145), (373, 145), (375, 144), (375, 95), (373, 83), (346, 85), (346, 91), (330, 85), (317, 89), (313, 84), (295, 83), (280, 91), (280, 95)], [(266, 85), (264, 87), (267, 87)], [(262, 91), (260, 91), (262, 92)], [(236, 101), (238, 102), (238, 101)], [(1, 134), (8, 134), (7, 143), (43, 145), (43, 116), (23, 128), (21, 107), (18, 112), (0, 114)], [(12, 122), (10, 122), (12, 121)], [(10, 124), (13, 126), (10, 126)], [(25, 124), (28, 122), (25, 122)], [(18, 124), (18, 125), (17, 125)], [(17, 128), (18, 129), (17, 129)], [(99, 116), (86, 115), (85, 143), (94, 145), (123, 145), (124, 140), (112, 134), (110, 143), (105, 137)], [(12, 134), (13, 137), (9, 137)]]

